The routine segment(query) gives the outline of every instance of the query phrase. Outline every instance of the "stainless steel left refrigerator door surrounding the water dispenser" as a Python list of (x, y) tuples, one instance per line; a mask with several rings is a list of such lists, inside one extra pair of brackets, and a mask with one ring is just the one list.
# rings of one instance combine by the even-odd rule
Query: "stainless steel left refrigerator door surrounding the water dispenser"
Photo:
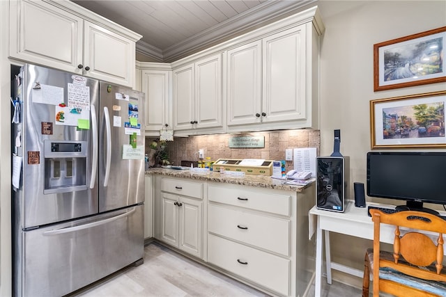
[[(35, 227), (55, 223), (72, 218), (80, 218), (98, 212), (98, 191), (89, 188), (66, 193), (44, 193), (45, 179), (45, 147), (44, 141), (84, 141), (91, 143), (91, 129), (78, 130), (75, 126), (56, 125), (55, 106), (33, 102), (33, 89), (36, 82), (40, 85), (63, 88), (64, 103), (68, 104), (68, 83), (72, 83), (73, 75), (45, 67), (25, 65), (23, 72), (23, 188), (17, 191), (16, 199), (20, 202), (15, 209), (16, 215), (22, 219), (22, 227)], [(86, 79), (90, 88), (91, 104), (98, 104), (98, 81)], [(43, 122), (52, 123), (52, 134), (43, 134)], [(91, 148), (86, 156), (86, 184), (89, 185), (91, 174)], [(29, 160), (29, 156), (38, 155)], [(85, 187), (84, 187), (85, 188)], [(17, 214), (18, 211), (18, 214)]]

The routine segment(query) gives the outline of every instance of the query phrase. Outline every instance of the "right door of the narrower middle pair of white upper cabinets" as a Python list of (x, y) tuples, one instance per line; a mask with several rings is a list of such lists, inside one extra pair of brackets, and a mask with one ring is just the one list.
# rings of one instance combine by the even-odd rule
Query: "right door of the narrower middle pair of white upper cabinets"
[(222, 55), (195, 63), (197, 128), (222, 127)]

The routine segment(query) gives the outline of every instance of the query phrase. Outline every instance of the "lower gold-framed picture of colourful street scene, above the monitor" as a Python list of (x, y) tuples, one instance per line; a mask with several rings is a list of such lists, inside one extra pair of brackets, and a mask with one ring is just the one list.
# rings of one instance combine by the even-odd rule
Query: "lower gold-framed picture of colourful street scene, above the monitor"
[(370, 102), (371, 148), (446, 147), (446, 91)]

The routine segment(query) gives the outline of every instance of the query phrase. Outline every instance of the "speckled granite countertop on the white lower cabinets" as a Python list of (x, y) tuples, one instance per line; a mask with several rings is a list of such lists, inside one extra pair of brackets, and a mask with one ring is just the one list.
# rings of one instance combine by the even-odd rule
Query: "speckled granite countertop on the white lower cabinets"
[(315, 179), (310, 179), (311, 182), (306, 186), (288, 185), (284, 184), (282, 179), (273, 179), (271, 177), (261, 175), (245, 175), (245, 177), (231, 177), (220, 172), (192, 173), (190, 170), (174, 170), (167, 168), (149, 168), (146, 174), (166, 175), (169, 177), (183, 177), (190, 179), (202, 180), (204, 182), (222, 182), (226, 184), (241, 184), (244, 186), (257, 186), (260, 188), (275, 188), (277, 190), (297, 191), (302, 192), (305, 188), (315, 182)]

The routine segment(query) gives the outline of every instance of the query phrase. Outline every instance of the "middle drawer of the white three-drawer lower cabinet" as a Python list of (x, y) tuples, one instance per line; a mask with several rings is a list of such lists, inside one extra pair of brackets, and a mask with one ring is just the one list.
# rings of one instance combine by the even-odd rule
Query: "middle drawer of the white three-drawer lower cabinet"
[(208, 206), (208, 232), (290, 255), (290, 221), (246, 211)]

